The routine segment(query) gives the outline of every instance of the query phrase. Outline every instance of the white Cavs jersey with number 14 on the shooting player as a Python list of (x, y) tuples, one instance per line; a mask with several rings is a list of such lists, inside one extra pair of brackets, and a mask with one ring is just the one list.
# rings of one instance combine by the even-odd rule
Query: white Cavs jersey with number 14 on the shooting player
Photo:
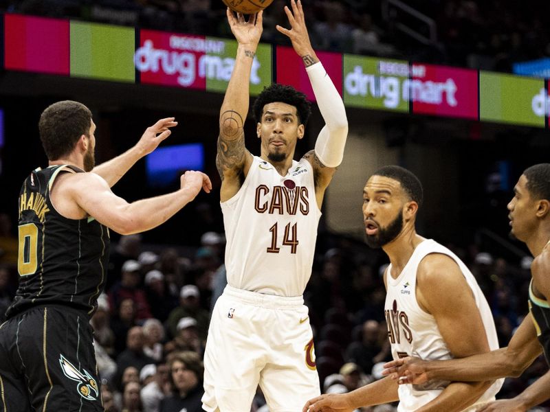
[(243, 186), (221, 210), (228, 284), (267, 295), (303, 295), (321, 216), (311, 163), (293, 161), (281, 176), (254, 156)]

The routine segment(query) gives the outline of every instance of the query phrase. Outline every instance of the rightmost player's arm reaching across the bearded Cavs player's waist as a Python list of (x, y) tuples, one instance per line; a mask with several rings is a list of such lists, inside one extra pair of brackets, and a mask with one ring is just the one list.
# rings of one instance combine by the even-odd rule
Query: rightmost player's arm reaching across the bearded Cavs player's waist
[(391, 375), (400, 384), (420, 385), (428, 380), (476, 381), (520, 376), (540, 355), (531, 314), (518, 326), (507, 347), (448, 361), (423, 361), (403, 358), (386, 363), (382, 374)]

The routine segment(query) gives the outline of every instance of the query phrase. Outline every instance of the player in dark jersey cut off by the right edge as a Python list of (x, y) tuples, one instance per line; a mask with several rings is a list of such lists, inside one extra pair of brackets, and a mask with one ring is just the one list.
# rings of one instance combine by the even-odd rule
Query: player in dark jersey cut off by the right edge
[[(542, 353), (550, 365), (550, 163), (527, 168), (508, 203), (510, 234), (527, 244), (531, 264), (529, 314), (507, 347), (463, 359), (426, 362), (404, 358), (386, 364), (385, 374), (401, 382), (423, 384), (432, 379), (477, 380), (520, 376)], [(550, 399), (550, 372), (512, 399), (487, 404), (483, 412), (522, 412)]]

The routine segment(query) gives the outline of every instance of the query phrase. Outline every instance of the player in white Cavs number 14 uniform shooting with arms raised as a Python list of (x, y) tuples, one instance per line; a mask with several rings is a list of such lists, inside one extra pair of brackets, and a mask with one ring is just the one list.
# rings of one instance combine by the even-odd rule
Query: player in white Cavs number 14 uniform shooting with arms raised
[(228, 10), (236, 60), (220, 111), (217, 168), (227, 247), (228, 286), (212, 312), (203, 409), (248, 411), (258, 385), (270, 411), (300, 411), (320, 393), (303, 292), (311, 275), (320, 206), (342, 161), (347, 117), (336, 87), (311, 47), (300, 1), (278, 26), (303, 59), (326, 125), (315, 150), (294, 161), (310, 103), (292, 87), (272, 84), (254, 103), (260, 156), (245, 148), (250, 71), (262, 12)]

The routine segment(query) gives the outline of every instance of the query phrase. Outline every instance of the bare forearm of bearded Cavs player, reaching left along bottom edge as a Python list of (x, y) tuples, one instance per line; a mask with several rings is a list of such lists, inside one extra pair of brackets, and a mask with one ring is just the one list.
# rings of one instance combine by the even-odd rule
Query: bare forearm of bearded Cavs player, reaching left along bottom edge
[(351, 412), (360, 407), (369, 407), (399, 400), (397, 383), (383, 378), (349, 393), (325, 394), (306, 402), (303, 412)]

